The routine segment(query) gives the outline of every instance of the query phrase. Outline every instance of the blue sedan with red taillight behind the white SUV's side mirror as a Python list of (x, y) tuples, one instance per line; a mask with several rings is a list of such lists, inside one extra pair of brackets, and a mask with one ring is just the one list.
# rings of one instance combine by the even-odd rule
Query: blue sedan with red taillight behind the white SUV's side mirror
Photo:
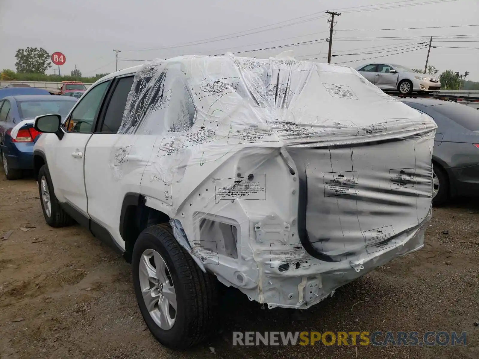
[(77, 99), (51, 95), (8, 96), (0, 100), (0, 158), (7, 179), (18, 179), (23, 169), (33, 169), (33, 146), (40, 133), (33, 128), (36, 116), (66, 116)]

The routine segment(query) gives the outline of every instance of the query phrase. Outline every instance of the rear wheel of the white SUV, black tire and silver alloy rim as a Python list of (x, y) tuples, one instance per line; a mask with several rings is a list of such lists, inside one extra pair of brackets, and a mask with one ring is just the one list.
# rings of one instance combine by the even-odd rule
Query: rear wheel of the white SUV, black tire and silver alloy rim
[(153, 225), (140, 233), (132, 264), (140, 312), (161, 344), (189, 348), (213, 332), (216, 279), (194, 263), (169, 226)]

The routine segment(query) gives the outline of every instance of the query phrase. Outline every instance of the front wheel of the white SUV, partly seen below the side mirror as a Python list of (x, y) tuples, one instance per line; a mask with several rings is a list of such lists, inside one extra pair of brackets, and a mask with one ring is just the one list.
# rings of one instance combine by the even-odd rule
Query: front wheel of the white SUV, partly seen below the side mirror
[(43, 216), (49, 226), (65, 227), (75, 223), (73, 218), (60, 207), (60, 202), (55, 197), (52, 179), (46, 165), (43, 165), (38, 172), (38, 191), (40, 192)]

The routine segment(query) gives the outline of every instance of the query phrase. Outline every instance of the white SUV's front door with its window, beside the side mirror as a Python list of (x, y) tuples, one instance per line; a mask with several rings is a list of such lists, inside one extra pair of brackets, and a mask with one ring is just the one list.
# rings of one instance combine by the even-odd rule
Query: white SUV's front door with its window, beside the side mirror
[(65, 135), (55, 144), (55, 152), (52, 154), (55, 160), (50, 161), (50, 158), (47, 158), (58, 200), (70, 204), (85, 216), (87, 215), (83, 175), (85, 146), (93, 133), (93, 126), (109, 85), (110, 81), (95, 85), (76, 104), (63, 125)]

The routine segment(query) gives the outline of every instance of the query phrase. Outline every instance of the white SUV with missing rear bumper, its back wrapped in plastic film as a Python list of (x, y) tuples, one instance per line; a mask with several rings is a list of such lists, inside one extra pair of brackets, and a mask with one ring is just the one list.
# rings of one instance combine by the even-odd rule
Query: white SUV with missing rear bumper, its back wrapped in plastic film
[(171, 348), (212, 332), (218, 280), (306, 309), (423, 246), (436, 125), (350, 67), (157, 60), (34, 126), (46, 222), (83, 224), (131, 261)]

